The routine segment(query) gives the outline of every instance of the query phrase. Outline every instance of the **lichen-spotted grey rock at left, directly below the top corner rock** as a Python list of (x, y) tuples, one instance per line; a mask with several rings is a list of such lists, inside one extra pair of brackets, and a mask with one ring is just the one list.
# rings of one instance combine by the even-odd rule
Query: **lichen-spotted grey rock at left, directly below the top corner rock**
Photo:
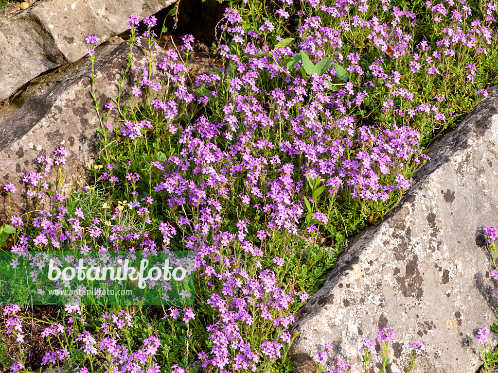
[[(129, 45), (106, 43), (97, 52), (97, 98), (101, 99), (100, 111), (106, 112), (104, 104), (109, 97), (117, 97), (116, 83), (120, 71), (126, 67)], [(132, 69), (148, 62), (148, 51), (135, 46)], [(165, 56), (162, 49), (154, 51), (156, 62)], [(17, 193), (10, 203), (13, 211), (26, 211), (25, 190), (22, 176), (37, 171), (36, 158), (51, 154), (64, 146), (69, 152), (63, 167), (64, 185), (68, 190), (72, 179), (83, 181), (86, 167), (90, 167), (98, 154), (100, 135), (96, 129), (100, 123), (90, 96), (91, 64), (87, 58), (60, 67), (34, 79), (22, 93), (16, 93), (10, 105), (0, 113), (0, 190), (7, 183), (14, 183)], [(130, 86), (136, 82), (134, 76), (125, 82), (126, 97)], [(115, 114), (113, 110), (111, 114)], [(111, 115), (111, 119), (114, 118)], [(52, 171), (52, 181), (55, 172)], [(9, 199), (0, 194), (0, 219), (5, 219)]]

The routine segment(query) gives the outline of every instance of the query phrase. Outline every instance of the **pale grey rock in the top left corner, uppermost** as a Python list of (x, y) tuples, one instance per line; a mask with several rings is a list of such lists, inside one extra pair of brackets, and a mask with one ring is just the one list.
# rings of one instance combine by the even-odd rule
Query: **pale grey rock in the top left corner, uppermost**
[(143, 18), (175, 1), (44, 0), (0, 19), (0, 100), (47, 70), (84, 57), (87, 35), (104, 42), (127, 29), (130, 13)]

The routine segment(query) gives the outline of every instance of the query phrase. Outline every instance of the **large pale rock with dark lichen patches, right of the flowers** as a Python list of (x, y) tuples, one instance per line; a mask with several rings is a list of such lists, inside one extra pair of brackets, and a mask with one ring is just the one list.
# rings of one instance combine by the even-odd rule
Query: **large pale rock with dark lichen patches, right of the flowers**
[[(415, 340), (427, 351), (414, 372), (476, 372), (482, 364), (476, 332), (497, 321), (482, 233), (498, 224), (497, 86), (429, 155), (400, 204), (350, 241), (297, 312), (295, 372), (313, 372), (327, 342), (334, 346), (330, 362), (344, 359), (359, 370), (362, 338), (375, 338), (381, 327), (396, 332), (388, 350), (392, 372), (404, 372)], [(495, 333), (490, 340), (497, 345)]]

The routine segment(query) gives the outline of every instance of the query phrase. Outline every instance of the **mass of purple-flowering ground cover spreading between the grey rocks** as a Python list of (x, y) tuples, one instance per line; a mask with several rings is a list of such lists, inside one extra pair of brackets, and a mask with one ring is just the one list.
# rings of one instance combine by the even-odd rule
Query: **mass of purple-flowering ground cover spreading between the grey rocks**
[[(13, 212), (0, 233), (19, 255), (192, 252), (195, 304), (67, 304), (50, 318), (6, 306), (6, 371), (290, 371), (293, 313), (347, 237), (399, 201), (429, 160), (427, 145), (496, 84), (495, 2), (229, 5), (213, 47), (222, 66), (197, 77), (187, 69), (191, 35), (159, 64), (133, 68), (137, 45), (157, 45), (155, 17), (131, 15), (119, 95), (89, 93), (102, 136), (94, 183), (64, 196), (45, 180), (60, 172), (65, 149), (40, 156), (40, 170), (24, 177), (32, 212)], [(99, 37), (86, 42), (93, 63)], [(136, 85), (126, 100), (128, 77)], [(332, 247), (305, 240), (317, 234)], [(378, 357), (365, 340), (357, 369), (370, 372), (378, 359), (385, 372), (393, 338), (379, 331)], [(424, 350), (410, 348), (408, 371)], [(319, 354), (318, 370), (327, 357)]]

